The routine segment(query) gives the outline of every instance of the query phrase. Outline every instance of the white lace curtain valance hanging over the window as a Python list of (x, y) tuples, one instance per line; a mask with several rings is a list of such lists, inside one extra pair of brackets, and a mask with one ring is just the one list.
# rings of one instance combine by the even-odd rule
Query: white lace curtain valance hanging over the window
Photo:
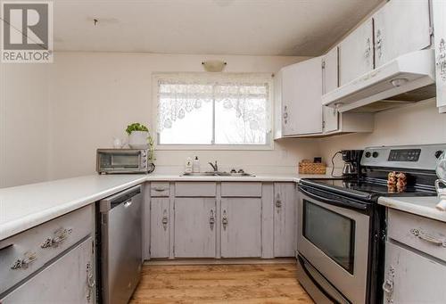
[(221, 103), (252, 130), (270, 131), (270, 74), (157, 75), (158, 131), (170, 128), (204, 103)]

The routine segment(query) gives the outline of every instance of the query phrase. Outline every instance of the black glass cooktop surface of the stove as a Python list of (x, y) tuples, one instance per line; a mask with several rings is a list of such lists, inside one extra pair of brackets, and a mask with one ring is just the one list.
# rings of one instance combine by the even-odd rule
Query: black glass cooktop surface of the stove
[(328, 191), (359, 196), (372, 199), (378, 196), (434, 196), (434, 187), (408, 185), (401, 191), (387, 186), (386, 181), (376, 179), (302, 179), (303, 185), (322, 187)]

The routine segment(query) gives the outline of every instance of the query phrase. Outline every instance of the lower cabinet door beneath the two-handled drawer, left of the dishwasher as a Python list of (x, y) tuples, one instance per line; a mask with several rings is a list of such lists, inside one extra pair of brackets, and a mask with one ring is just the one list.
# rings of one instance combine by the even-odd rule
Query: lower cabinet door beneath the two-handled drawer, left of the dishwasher
[[(95, 303), (93, 239), (88, 237), (0, 300), (8, 303)], [(89, 283), (89, 284), (88, 284)]]

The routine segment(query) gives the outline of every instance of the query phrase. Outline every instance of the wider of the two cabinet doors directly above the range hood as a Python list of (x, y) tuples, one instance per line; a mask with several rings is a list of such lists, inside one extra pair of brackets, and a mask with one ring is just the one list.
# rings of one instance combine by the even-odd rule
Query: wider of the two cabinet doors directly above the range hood
[(376, 68), (431, 45), (429, 0), (392, 0), (373, 18)]

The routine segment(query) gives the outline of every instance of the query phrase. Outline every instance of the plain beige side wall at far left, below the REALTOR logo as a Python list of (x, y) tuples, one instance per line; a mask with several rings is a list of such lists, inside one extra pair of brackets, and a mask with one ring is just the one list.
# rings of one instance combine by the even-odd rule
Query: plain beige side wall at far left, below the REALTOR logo
[(48, 178), (48, 65), (0, 63), (0, 188)]

